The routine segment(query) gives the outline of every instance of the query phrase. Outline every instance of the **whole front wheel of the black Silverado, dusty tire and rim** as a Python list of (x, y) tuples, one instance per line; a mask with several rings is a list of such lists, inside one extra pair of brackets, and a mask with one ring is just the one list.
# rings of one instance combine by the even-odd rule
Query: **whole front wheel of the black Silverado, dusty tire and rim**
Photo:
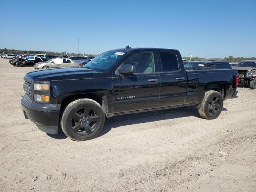
[(105, 123), (102, 107), (92, 99), (78, 99), (65, 108), (61, 128), (70, 139), (84, 141), (95, 138)]

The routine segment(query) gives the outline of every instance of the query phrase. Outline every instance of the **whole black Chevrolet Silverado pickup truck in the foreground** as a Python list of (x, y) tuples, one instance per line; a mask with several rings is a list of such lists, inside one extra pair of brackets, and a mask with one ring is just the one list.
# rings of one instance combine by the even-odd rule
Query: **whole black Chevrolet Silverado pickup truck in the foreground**
[(223, 100), (237, 97), (237, 70), (185, 70), (178, 50), (116, 49), (82, 68), (28, 72), (24, 77), (25, 118), (44, 132), (58, 126), (72, 140), (95, 138), (105, 117), (196, 105), (217, 118)]

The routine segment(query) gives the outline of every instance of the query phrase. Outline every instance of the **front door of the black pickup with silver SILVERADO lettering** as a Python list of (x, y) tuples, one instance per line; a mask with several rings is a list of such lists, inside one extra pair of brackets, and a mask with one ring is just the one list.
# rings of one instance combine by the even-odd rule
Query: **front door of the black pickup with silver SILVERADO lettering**
[[(115, 113), (158, 107), (160, 78), (154, 50), (132, 53), (121, 64), (136, 66), (136, 73), (114, 74)], [(120, 67), (121, 67), (120, 66)]]

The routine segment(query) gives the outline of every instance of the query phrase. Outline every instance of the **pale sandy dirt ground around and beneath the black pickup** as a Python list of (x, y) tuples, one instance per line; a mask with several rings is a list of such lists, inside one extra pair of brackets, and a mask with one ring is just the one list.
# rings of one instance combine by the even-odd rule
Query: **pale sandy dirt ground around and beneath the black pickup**
[(256, 90), (238, 88), (216, 120), (194, 106), (116, 116), (74, 142), (24, 118), (26, 72), (0, 59), (0, 191), (256, 191)]

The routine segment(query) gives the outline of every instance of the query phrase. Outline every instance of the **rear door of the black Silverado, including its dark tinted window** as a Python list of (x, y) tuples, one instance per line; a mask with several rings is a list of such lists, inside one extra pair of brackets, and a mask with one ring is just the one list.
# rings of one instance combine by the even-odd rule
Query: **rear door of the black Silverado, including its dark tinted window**
[(160, 65), (160, 107), (182, 106), (186, 100), (186, 72), (174, 51), (158, 51)]

